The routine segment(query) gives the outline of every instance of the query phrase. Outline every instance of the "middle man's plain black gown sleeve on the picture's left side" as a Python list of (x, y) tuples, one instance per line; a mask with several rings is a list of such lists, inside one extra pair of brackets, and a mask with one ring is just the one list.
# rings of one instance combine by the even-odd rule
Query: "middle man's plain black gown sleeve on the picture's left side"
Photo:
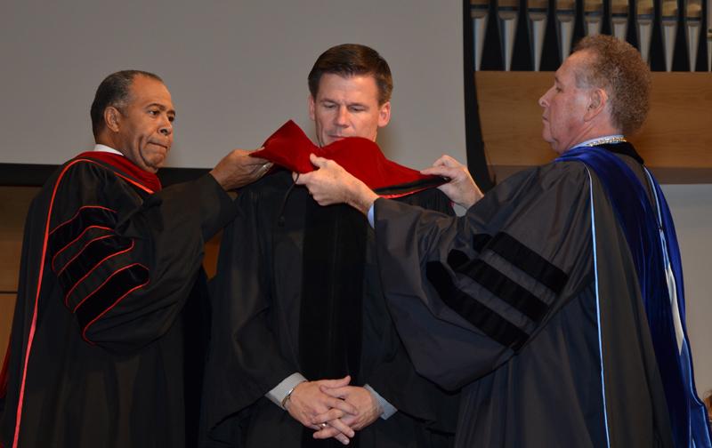
[(275, 206), (261, 206), (259, 185), (239, 194), (238, 216), (223, 232), (210, 284), (213, 316), (203, 398), (208, 434), (297, 369), (282, 356), (272, 331), (270, 229), (260, 226), (259, 215)]

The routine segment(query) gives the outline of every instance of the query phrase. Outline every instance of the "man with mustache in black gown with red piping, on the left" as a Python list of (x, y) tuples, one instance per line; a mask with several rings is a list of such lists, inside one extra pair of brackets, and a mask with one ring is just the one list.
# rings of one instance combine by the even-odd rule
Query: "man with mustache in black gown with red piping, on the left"
[(0, 445), (195, 446), (204, 243), (234, 217), (225, 190), (270, 164), (235, 150), (162, 189), (175, 110), (147, 72), (104, 79), (91, 116), (96, 147), (61, 165), (28, 212)]

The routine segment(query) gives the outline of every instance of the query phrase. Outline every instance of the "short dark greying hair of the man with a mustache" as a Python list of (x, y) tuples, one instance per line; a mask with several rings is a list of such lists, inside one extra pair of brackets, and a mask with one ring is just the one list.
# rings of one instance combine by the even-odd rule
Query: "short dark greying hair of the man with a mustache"
[(89, 112), (92, 116), (94, 139), (99, 136), (99, 132), (104, 127), (104, 110), (109, 106), (120, 110), (126, 105), (131, 84), (134, 83), (134, 77), (138, 75), (147, 76), (163, 83), (163, 79), (160, 76), (142, 70), (117, 71), (101, 81), (94, 94), (92, 108)]

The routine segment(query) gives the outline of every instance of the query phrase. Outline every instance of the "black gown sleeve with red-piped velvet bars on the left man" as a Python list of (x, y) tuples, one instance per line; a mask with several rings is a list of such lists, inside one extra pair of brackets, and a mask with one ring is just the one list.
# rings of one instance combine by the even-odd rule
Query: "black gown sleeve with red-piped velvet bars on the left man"
[(210, 175), (143, 196), (98, 164), (68, 165), (54, 184), (47, 265), (85, 340), (131, 351), (165, 334), (233, 210)]

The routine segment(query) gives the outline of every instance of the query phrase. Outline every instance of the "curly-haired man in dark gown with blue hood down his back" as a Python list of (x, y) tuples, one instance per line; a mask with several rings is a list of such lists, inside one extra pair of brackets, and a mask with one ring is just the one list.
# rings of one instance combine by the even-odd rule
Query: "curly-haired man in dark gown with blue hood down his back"
[(409, 355), (462, 388), (457, 446), (710, 446), (673, 222), (625, 138), (649, 90), (632, 46), (583, 39), (539, 100), (554, 163), (483, 197), (448, 156), (426, 170), (451, 179), (463, 218), (378, 198), (318, 157), (298, 180), (371, 214)]

